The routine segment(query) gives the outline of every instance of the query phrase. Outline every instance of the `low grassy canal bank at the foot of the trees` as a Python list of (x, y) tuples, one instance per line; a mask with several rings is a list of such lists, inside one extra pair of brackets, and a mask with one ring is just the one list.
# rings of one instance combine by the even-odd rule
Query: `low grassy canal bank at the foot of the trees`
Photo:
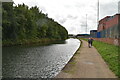
[(60, 42), (63, 40), (57, 39), (49, 39), (49, 38), (42, 38), (42, 39), (23, 39), (23, 40), (4, 40), (2, 42), (2, 46), (15, 46), (15, 45), (46, 45), (52, 44), (56, 42)]

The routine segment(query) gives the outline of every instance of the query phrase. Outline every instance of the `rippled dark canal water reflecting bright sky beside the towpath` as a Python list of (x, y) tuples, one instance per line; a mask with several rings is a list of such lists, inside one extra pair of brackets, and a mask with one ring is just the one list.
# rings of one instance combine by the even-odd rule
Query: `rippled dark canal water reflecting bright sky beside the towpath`
[(61, 44), (3, 47), (3, 78), (54, 78), (79, 46), (71, 38)]

